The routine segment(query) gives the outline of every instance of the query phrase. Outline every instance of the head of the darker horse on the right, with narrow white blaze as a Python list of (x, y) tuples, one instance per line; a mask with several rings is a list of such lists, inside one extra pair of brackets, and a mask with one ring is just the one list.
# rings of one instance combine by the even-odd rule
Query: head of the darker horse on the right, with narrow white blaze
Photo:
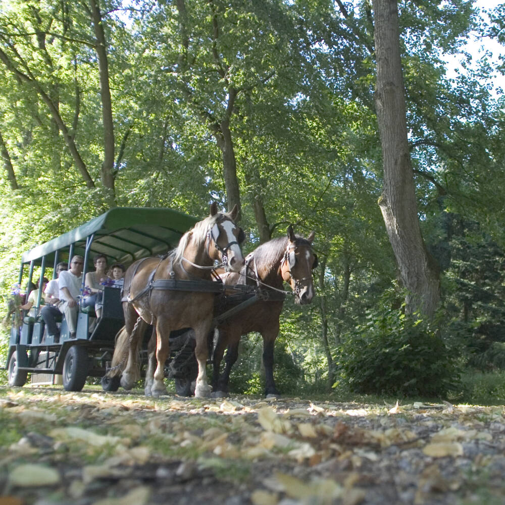
[(287, 229), (288, 242), (281, 262), (282, 278), (294, 292), (294, 301), (299, 305), (310, 304), (314, 297), (312, 270), (317, 267), (317, 255), (312, 250), (315, 232), (307, 238), (296, 237), (293, 227)]

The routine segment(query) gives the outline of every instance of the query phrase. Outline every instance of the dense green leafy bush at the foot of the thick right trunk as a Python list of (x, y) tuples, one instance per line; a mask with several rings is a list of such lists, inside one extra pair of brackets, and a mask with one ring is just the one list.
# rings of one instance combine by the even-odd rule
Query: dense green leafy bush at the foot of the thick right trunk
[(338, 351), (341, 378), (358, 393), (440, 397), (458, 387), (456, 357), (435, 325), (401, 308), (369, 313)]

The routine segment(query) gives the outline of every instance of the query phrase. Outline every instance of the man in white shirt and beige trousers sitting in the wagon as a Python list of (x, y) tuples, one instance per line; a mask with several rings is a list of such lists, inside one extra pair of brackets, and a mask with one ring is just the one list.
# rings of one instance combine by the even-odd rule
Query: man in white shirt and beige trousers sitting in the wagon
[(75, 338), (77, 329), (77, 311), (79, 309), (79, 294), (82, 285), (82, 268), (84, 259), (82, 256), (74, 256), (70, 262), (70, 270), (60, 273), (60, 304), (58, 309), (65, 314), (70, 337)]

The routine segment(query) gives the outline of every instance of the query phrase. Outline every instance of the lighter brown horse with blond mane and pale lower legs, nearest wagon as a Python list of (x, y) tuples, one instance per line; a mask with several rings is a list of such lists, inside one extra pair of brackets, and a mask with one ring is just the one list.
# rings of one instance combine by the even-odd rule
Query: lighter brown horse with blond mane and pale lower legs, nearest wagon
[[(166, 394), (165, 362), (169, 356), (169, 336), (172, 330), (192, 328), (198, 362), (195, 396), (208, 396), (206, 364), (207, 335), (214, 312), (215, 284), (211, 271), (216, 260), (231, 272), (240, 271), (244, 258), (240, 250), (243, 231), (234, 223), (237, 206), (229, 213), (219, 213), (211, 206), (211, 215), (196, 223), (185, 233), (176, 249), (163, 258), (138, 260), (126, 271), (123, 290), (125, 327), (118, 333), (109, 377), (121, 373), (121, 385), (131, 389), (140, 378), (137, 363), (142, 336), (149, 324), (156, 336), (156, 362), (153, 381), (145, 385), (146, 394)], [(176, 281), (195, 281), (190, 288)], [(191, 289), (191, 290), (188, 290)], [(194, 290), (193, 290), (194, 289)]]

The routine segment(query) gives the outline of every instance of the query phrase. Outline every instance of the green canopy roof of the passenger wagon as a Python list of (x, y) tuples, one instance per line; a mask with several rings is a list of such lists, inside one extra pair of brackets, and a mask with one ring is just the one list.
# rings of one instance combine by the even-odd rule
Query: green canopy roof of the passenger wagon
[(100, 253), (109, 258), (109, 264), (119, 262), (128, 265), (138, 258), (164, 254), (173, 249), (182, 234), (197, 221), (172, 209), (116, 207), (25, 252), (22, 262), (40, 264), (45, 256), (47, 265), (47, 262), (54, 261), (56, 251), (62, 253), (58, 261), (65, 261), (71, 244), (74, 245), (74, 255), (84, 256), (86, 241), (93, 236), (90, 258)]

